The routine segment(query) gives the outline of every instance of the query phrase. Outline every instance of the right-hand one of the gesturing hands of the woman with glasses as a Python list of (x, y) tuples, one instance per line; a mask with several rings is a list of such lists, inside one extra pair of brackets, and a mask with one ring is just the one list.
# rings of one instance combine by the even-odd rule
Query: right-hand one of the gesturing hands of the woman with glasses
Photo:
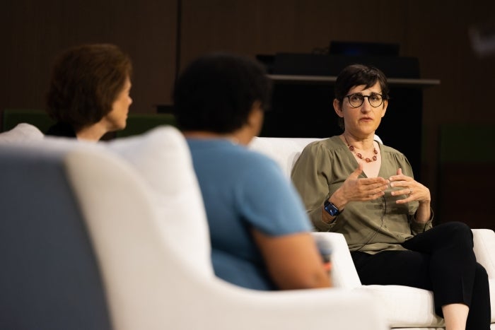
[(392, 196), (405, 195), (404, 199), (397, 199), (397, 204), (404, 204), (409, 201), (419, 201), (429, 203), (431, 201), (430, 189), (417, 182), (412, 177), (402, 174), (402, 168), (397, 169), (397, 175), (390, 177), (390, 187), (400, 188), (393, 190)]

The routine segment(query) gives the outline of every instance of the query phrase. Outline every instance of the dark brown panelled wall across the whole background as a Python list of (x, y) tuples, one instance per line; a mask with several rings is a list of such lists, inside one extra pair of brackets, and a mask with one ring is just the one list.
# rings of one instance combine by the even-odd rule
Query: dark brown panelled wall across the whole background
[[(495, 54), (474, 52), (469, 35), (487, 23), (495, 23), (493, 0), (6, 0), (0, 111), (42, 108), (54, 55), (82, 42), (114, 42), (132, 56), (134, 112), (170, 103), (177, 71), (204, 52), (255, 57), (313, 52), (330, 40), (394, 42), (401, 56), (419, 59), (421, 78), (441, 81), (424, 90), (418, 110), (421, 179), (435, 196), (438, 127), (495, 124)], [(396, 124), (397, 139), (408, 139), (407, 122)]]

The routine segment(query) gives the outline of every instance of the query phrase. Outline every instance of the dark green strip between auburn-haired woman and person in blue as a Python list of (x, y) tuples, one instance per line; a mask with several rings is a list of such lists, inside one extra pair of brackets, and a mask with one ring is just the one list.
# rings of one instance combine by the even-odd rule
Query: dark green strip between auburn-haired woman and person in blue
[(127, 126), (122, 131), (116, 131), (115, 137), (131, 136), (142, 134), (156, 126), (173, 125), (175, 117), (173, 114), (129, 114)]

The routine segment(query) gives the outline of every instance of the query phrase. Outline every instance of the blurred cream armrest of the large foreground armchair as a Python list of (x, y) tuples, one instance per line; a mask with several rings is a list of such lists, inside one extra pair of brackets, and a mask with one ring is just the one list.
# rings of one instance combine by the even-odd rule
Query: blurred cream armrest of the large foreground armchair
[[(194, 308), (199, 322), (188, 329), (389, 329), (374, 295), (362, 290), (256, 291), (217, 284), (210, 292), (202, 292), (198, 302), (192, 302), (193, 308), (203, 307)], [(187, 311), (185, 317), (192, 318)]]

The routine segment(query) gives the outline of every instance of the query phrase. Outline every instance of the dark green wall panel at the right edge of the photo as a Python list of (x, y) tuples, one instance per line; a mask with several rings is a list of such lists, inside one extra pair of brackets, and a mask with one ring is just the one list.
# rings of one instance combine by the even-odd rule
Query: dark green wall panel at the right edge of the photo
[(441, 163), (494, 163), (495, 124), (442, 124)]

